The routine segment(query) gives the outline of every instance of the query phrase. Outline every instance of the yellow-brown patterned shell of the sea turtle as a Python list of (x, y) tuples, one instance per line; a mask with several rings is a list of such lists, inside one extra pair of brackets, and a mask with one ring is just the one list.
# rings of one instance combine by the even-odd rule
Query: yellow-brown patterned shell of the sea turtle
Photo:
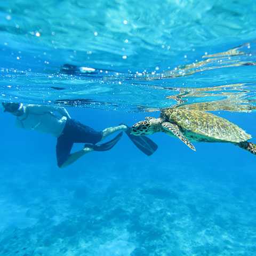
[(251, 139), (251, 135), (236, 124), (205, 111), (179, 108), (165, 109), (161, 113), (161, 118), (165, 122), (179, 125), (181, 130), (185, 130), (186, 133), (198, 134), (200, 137), (207, 137), (208, 140), (212, 141), (239, 143)]

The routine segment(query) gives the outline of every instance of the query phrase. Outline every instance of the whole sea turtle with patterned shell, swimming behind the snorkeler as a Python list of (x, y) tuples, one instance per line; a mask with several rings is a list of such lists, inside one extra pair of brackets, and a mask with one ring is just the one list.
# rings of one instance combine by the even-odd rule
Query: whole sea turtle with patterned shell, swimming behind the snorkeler
[(251, 135), (237, 125), (219, 116), (201, 110), (182, 107), (161, 111), (159, 118), (146, 117), (145, 121), (132, 126), (133, 135), (148, 135), (164, 132), (178, 137), (189, 148), (196, 150), (190, 141), (231, 142), (256, 154), (256, 144), (247, 142)]

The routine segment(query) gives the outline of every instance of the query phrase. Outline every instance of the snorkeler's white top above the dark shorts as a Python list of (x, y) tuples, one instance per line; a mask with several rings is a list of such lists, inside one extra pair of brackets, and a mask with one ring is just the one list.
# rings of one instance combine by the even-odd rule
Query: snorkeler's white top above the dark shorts
[(16, 125), (23, 129), (49, 133), (59, 137), (64, 129), (68, 111), (63, 107), (26, 105), (23, 115), (17, 116)]

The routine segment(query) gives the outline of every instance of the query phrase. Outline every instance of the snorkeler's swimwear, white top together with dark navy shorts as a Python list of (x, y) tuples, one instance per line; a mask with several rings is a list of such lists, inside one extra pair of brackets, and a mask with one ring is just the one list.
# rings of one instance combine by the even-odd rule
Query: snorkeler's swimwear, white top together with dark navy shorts
[(68, 159), (74, 143), (95, 143), (102, 139), (102, 132), (71, 119), (62, 107), (26, 105), (17, 116), (18, 127), (49, 133), (57, 137), (57, 163), (60, 167)]

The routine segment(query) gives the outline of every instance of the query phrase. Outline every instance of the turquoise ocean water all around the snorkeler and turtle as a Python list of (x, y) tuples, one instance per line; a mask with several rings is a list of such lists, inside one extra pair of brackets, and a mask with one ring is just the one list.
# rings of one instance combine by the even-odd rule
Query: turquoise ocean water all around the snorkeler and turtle
[[(201, 106), (256, 143), (255, 12), (242, 0), (1, 1), (0, 101), (66, 106), (96, 130)], [(256, 254), (255, 155), (158, 133), (147, 157), (124, 134), (59, 169), (55, 138), (14, 121), (1, 112), (1, 256)]]

